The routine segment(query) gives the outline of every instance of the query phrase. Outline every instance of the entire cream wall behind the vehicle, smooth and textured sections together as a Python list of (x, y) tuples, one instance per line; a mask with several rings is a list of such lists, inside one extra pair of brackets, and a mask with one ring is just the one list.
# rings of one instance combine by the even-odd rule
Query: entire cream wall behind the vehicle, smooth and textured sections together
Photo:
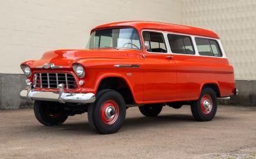
[(124, 20), (211, 29), (236, 79), (256, 80), (255, 0), (1, 0), (0, 73), (22, 73), (47, 50), (83, 49), (93, 27)]

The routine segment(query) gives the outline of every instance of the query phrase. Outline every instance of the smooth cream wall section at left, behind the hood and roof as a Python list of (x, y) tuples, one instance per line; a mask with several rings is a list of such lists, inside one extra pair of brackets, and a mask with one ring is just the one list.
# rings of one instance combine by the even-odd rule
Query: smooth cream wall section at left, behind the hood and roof
[(47, 50), (83, 49), (90, 30), (100, 24), (181, 23), (181, 7), (179, 0), (1, 0), (0, 73), (22, 73), (22, 61)]

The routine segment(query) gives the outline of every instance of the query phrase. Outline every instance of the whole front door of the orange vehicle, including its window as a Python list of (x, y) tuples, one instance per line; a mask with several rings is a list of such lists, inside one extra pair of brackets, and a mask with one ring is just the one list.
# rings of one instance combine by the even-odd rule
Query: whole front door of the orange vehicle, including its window
[(144, 102), (161, 102), (176, 98), (176, 65), (168, 52), (164, 34), (159, 31), (143, 31)]

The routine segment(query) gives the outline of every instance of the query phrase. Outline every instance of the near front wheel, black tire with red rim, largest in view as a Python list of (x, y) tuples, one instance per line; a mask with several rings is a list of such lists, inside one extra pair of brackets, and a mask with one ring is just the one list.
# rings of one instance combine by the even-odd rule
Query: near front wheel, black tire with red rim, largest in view
[[(108, 118), (106, 110), (111, 116)], [(124, 98), (117, 91), (106, 89), (97, 93), (96, 101), (88, 107), (88, 121), (98, 133), (109, 134), (117, 132), (124, 123), (126, 107)]]

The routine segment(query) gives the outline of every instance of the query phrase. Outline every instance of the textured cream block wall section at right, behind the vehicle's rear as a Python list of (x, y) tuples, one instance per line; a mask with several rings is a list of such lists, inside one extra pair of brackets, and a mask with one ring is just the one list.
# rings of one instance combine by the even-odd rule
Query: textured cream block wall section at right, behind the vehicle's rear
[(256, 1), (184, 0), (182, 23), (219, 34), (236, 79), (256, 80)]

